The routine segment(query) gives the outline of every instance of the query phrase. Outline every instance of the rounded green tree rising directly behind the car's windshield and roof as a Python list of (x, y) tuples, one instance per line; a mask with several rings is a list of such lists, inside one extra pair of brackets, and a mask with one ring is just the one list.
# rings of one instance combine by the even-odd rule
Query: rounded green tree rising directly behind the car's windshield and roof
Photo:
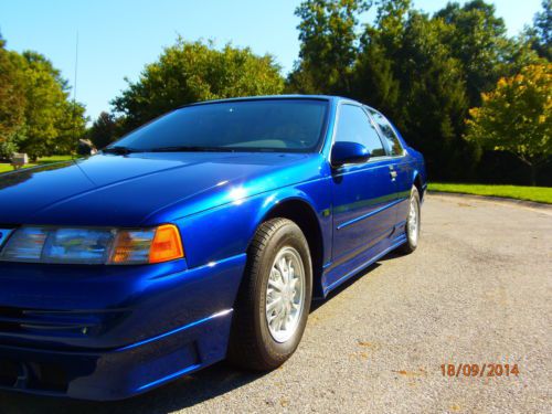
[[(128, 81), (127, 81), (128, 82)], [(279, 94), (284, 79), (270, 55), (250, 49), (214, 49), (212, 43), (185, 42), (167, 47), (158, 62), (148, 64), (136, 83), (112, 104), (125, 116), (125, 130), (198, 100)]]

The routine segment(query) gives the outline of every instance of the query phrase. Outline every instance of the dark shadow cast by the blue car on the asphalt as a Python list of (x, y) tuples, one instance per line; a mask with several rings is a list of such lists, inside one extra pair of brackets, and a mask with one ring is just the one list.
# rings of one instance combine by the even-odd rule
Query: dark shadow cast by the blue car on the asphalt
[[(382, 259), (391, 258), (389, 256)], [(310, 312), (316, 311), (328, 300), (339, 296), (361, 278), (369, 276), (379, 266), (380, 263), (378, 262), (372, 264), (332, 290), (326, 299), (315, 300)], [(184, 410), (203, 401), (223, 395), (254, 382), (266, 374), (241, 371), (230, 367), (225, 362), (220, 362), (146, 394), (115, 402), (89, 402), (0, 391), (0, 414), (164, 414)]]

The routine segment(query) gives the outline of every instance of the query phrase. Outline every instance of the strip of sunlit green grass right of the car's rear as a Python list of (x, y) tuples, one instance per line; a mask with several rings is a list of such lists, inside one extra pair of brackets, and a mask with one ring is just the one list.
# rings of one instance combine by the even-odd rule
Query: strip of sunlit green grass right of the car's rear
[(429, 183), (428, 190), (476, 195), (502, 197), (508, 199), (529, 200), (537, 201), (539, 203), (552, 204), (551, 187), (449, 184), (434, 182)]

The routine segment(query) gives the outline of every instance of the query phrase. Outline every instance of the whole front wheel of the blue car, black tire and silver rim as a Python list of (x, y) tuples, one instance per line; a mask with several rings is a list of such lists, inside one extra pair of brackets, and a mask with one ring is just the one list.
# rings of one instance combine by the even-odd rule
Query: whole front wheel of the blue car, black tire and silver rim
[[(279, 258), (278, 264), (275, 263), (276, 258)], [(282, 259), (285, 261), (284, 266)], [(304, 277), (300, 275), (300, 265)], [(284, 270), (280, 272), (279, 266)], [(286, 285), (286, 280), (291, 282)], [(274, 287), (275, 284), (282, 287), (282, 294)], [(246, 270), (234, 308), (229, 362), (255, 371), (282, 365), (301, 340), (311, 296), (312, 264), (301, 230), (287, 219), (273, 219), (263, 223), (247, 251)], [(273, 306), (275, 309), (272, 309)], [(268, 322), (269, 318), (272, 323)], [(282, 321), (282, 331), (277, 329), (278, 321)], [(284, 332), (285, 328), (288, 328), (287, 332)]]

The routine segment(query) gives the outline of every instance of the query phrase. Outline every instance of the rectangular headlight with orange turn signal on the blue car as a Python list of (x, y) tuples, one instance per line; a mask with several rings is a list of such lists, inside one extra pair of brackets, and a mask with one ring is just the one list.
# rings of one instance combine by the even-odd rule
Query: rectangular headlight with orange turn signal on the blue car
[(184, 257), (177, 226), (153, 229), (18, 229), (0, 261), (30, 263), (138, 265)]

